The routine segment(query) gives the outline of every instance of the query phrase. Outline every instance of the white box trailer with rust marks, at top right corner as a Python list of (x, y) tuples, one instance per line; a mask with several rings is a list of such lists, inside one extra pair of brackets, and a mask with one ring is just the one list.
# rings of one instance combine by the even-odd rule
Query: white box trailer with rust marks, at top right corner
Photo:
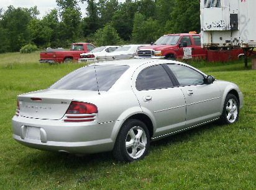
[(200, 7), (204, 47), (256, 47), (256, 0), (201, 0)]

